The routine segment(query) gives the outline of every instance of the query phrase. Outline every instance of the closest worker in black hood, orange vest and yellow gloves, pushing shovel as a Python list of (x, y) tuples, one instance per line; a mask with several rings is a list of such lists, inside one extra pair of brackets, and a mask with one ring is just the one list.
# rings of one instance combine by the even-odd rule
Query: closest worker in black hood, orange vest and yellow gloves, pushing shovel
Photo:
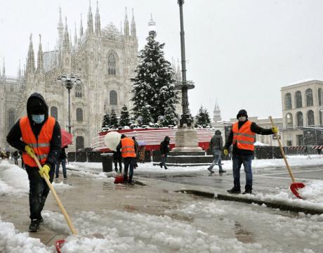
[[(48, 106), (39, 93), (32, 93), (27, 100), (27, 116), (18, 120), (7, 136), (8, 143), (22, 151), (22, 160), (29, 179), (29, 209), (31, 223), (29, 231), (39, 231), (43, 221), (41, 211), (45, 205), (49, 188), (42, 176), (53, 181), (55, 164), (60, 156), (60, 124), (48, 116)], [(42, 168), (37, 167), (37, 157)]]

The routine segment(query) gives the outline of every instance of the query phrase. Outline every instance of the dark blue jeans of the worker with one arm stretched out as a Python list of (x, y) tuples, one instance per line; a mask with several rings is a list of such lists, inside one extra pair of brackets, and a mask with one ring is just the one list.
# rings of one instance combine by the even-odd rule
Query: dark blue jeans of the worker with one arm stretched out
[(253, 155), (235, 155), (232, 154), (233, 184), (234, 187), (240, 189), (240, 168), (244, 164), (244, 172), (246, 173), (246, 190), (252, 190), (252, 170), (251, 161)]

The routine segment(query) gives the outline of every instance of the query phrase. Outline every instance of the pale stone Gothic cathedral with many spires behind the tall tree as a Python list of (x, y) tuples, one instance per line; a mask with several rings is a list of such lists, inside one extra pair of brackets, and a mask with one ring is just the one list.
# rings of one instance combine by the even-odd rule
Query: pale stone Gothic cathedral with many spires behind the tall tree
[[(18, 78), (0, 81), (0, 146), (8, 148), (6, 134), (11, 126), (26, 114), (27, 98), (38, 92), (48, 104), (49, 114), (58, 119), (60, 127), (68, 126), (68, 90), (58, 81), (63, 73), (75, 74), (81, 79), (70, 90), (70, 115), (73, 134), (71, 150), (91, 147), (92, 138), (98, 136), (103, 115), (112, 108), (119, 114), (121, 107), (131, 108), (131, 77), (137, 66), (138, 39), (136, 22), (132, 15), (129, 24), (127, 13), (124, 28), (117, 29), (112, 23), (100, 25), (97, 6), (95, 18), (88, 8), (87, 27), (80, 22), (79, 32), (74, 28), (72, 39), (58, 18), (58, 41), (52, 51), (43, 52), (39, 35), (37, 66), (35, 66), (32, 35), (29, 40), (27, 63)], [(4, 76), (4, 78), (2, 78)], [(8, 101), (7, 101), (8, 100)]]

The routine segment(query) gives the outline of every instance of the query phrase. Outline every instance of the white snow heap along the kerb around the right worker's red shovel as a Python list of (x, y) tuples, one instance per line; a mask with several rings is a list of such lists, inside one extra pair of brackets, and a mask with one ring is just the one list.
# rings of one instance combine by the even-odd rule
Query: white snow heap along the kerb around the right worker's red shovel
[(298, 199), (291, 190), (285, 189), (277, 194), (244, 195), (251, 200), (262, 200), (265, 202), (279, 202), (287, 205), (294, 205), (305, 208), (323, 209), (323, 181), (309, 181), (305, 183), (305, 187), (298, 190), (303, 200)]

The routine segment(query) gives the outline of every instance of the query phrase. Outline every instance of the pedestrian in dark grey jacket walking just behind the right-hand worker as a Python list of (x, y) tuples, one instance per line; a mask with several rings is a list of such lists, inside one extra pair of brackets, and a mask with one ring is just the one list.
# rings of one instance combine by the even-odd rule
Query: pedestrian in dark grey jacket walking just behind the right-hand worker
[(222, 168), (222, 164), (221, 164), (221, 162), (222, 162), (222, 160), (221, 160), (221, 150), (223, 148), (223, 138), (221, 136), (221, 131), (220, 130), (216, 130), (216, 132), (212, 136), (211, 141), (209, 143), (209, 148), (212, 151), (213, 162), (210, 165), (210, 167), (208, 168), (208, 170), (211, 173), (214, 173), (213, 167), (214, 167), (214, 165), (218, 164), (219, 173), (225, 173), (225, 170)]

